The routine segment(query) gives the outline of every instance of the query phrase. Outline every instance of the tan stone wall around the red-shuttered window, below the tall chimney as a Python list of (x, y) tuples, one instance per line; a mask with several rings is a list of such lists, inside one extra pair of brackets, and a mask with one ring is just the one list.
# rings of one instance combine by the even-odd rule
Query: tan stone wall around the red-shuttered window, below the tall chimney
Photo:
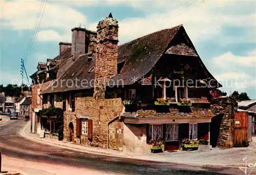
[[(88, 117), (88, 119), (93, 120), (93, 138), (87, 139), (87, 136), (82, 135), (80, 140), (80, 138), (74, 136), (75, 142), (108, 148), (108, 128), (110, 128), (110, 131), (114, 131), (115, 127), (121, 129), (122, 124), (116, 123), (119, 121), (118, 116), (123, 111), (124, 106), (121, 98), (95, 100), (93, 97), (76, 97), (75, 112), (64, 113), (64, 140), (68, 141), (70, 122), (73, 123), (74, 135), (76, 135), (76, 117)], [(111, 148), (122, 149), (119, 144), (121, 142), (120, 137), (111, 135)]]

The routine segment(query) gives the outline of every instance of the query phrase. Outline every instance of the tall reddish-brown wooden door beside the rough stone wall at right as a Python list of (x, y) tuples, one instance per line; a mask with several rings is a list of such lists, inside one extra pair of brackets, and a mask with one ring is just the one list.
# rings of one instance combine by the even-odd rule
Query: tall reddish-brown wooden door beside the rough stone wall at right
[(233, 122), (233, 146), (247, 146), (248, 112), (235, 112)]

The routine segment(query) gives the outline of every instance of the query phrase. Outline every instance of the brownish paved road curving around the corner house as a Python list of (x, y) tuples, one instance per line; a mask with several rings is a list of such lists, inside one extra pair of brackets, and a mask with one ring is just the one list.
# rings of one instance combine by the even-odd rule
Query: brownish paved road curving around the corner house
[(30, 171), (33, 174), (40, 169), (42, 171), (37, 174), (50, 171), (55, 174), (63, 174), (63, 171), (66, 174), (244, 174), (237, 167), (201, 167), (117, 158), (33, 142), (19, 135), (26, 122), (18, 119), (0, 124), (0, 150), (6, 167), (22, 167), (27, 162), (26, 166), (34, 169)]

